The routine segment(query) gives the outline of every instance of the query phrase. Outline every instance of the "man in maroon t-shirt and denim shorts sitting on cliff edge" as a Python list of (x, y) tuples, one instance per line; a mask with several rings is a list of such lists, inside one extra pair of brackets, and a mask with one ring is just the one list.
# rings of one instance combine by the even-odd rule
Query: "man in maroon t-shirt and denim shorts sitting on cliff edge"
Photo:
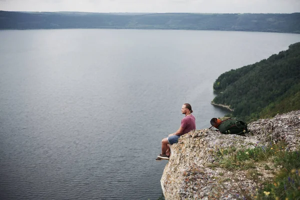
[(185, 116), (181, 119), (179, 129), (161, 140), (161, 154), (157, 155), (157, 158), (155, 159), (156, 161), (160, 161), (161, 159), (169, 159), (169, 144), (177, 143), (178, 138), (181, 135), (196, 129), (195, 117), (191, 115), (192, 109), (190, 104), (184, 103), (182, 105), (181, 112), (182, 114), (185, 114)]

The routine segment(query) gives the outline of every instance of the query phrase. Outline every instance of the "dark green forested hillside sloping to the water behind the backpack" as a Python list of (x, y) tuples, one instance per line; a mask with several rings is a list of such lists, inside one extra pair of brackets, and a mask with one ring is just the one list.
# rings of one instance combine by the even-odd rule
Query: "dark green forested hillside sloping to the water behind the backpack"
[(300, 109), (300, 42), (255, 64), (221, 74), (212, 102), (230, 105), (246, 121)]

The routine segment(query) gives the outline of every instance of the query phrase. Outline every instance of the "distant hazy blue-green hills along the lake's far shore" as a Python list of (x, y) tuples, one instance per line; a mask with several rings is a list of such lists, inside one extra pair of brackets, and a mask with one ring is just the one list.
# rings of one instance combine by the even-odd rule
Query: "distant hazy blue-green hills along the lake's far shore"
[(0, 29), (142, 28), (300, 33), (300, 13), (91, 13), (0, 11)]

